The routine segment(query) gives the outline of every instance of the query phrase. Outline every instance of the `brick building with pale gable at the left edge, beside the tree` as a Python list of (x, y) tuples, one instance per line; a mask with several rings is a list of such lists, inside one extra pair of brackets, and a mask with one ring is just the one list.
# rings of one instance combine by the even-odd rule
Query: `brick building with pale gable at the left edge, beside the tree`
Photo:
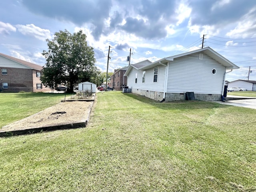
[(42, 66), (0, 53), (1, 92), (42, 92), (46, 88), (41, 80)]

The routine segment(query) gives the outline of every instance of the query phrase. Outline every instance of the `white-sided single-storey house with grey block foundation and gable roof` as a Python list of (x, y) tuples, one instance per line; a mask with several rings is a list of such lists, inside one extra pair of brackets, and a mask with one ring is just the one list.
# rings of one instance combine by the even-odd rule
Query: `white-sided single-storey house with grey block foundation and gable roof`
[(223, 99), (226, 73), (238, 68), (206, 47), (156, 62), (130, 64), (125, 76), (132, 93), (154, 100), (186, 100), (186, 93), (194, 92), (196, 100), (216, 101)]

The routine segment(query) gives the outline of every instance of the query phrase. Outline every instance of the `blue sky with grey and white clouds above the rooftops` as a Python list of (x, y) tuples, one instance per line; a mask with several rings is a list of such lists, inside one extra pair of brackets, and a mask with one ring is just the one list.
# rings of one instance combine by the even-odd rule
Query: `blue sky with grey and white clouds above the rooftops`
[(109, 72), (202, 47), (240, 66), (226, 80), (256, 80), (256, 0), (1, 0), (0, 52), (44, 65), (46, 39), (82, 29)]

